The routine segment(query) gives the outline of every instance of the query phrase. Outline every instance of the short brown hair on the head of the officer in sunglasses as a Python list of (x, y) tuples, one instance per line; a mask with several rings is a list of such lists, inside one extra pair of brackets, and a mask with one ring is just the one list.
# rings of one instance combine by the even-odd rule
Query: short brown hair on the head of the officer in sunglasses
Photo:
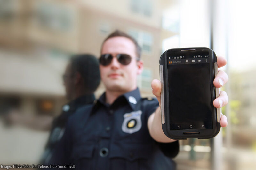
[(103, 44), (104, 44), (108, 39), (110, 39), (110, 38), (112, 38), (112, 37), (126, 37), (126, 38), (130, 39), (130, 40), (134, 43), (134, 45), (135, 45), (135, 48), (136, 48), (136, 51), (135, 51), (135, 52), (136, 52), (136, 54), (137, 54), (137, 57), (140, 58), (140, 56), (141, 56), (141, 48), (140, 48), (138, 42), (137, 42), (132, 36), (128, 35), (127, 33), (122, 32), (122, 31), (120, 31), (120, 30), (116, 30), (116, 31), (114, 31), (113, 33), (111, 33), (111, 34), (108, 35), (108, 37), (107, 37), (107, 38), (102, 42), (102, 44), (101, 44), (100, 52), (102, 51), (102, 46), (103, 46)]

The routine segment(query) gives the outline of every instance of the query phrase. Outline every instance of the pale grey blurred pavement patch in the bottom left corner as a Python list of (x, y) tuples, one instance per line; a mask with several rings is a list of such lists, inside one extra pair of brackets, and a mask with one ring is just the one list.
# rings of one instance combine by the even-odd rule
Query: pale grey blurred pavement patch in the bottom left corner
[(46, 144), (49, 132), (21, 127), (4, 127), (0, 119), (1, 164), (37, 164)]

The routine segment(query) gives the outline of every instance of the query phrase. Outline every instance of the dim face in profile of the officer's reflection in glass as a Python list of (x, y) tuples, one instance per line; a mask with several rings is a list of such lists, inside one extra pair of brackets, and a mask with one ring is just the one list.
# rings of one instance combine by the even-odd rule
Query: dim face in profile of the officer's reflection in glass
[(72, 99), (72, 95), (74, 92), (74, 80), (73, 75), (71, 74), (71, 64), (69, 63), (66, 67), (65, 73), (63, 75), (63, 85), (66, 90), (66, 97), (68, 100)]

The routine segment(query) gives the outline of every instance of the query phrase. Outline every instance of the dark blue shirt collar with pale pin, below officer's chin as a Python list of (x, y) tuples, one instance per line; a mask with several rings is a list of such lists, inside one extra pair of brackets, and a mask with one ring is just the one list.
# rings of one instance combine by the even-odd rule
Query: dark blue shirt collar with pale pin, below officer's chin
[[(141, 96), (140, 96), (140, 91), (139, 88), (136, 88), (135, 90), (132, 90), (130, 92), (124, 93), (121, 96), (119, 96), (116, 100), (120, 100), (120, 98), (125, 98), (127, 103), (129, 103), (130, 107), (135, 110), (137, 103), (140, 101)], [(114, 101), (114, 103), (116, 102)], [(113, 103), (113, 104), (114, 104)], [(94, 105), (94, 109), (99, 107), (99, 105), (102, 104), (105, 107), (109, 107), (110, 105), (106, 103), (106, 92), (104, 92), (100, 98), (97, 100), (97, 102)]]

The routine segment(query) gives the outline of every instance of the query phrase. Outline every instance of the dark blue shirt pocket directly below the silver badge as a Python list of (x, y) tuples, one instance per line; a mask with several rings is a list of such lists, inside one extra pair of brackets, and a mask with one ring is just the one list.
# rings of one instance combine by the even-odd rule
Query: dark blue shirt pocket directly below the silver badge
[(152, 153), (151, 149), (151, 145), (145, 143), (113, 143), (109, 152), (110, 169), (150, 169), (148, 159)]

